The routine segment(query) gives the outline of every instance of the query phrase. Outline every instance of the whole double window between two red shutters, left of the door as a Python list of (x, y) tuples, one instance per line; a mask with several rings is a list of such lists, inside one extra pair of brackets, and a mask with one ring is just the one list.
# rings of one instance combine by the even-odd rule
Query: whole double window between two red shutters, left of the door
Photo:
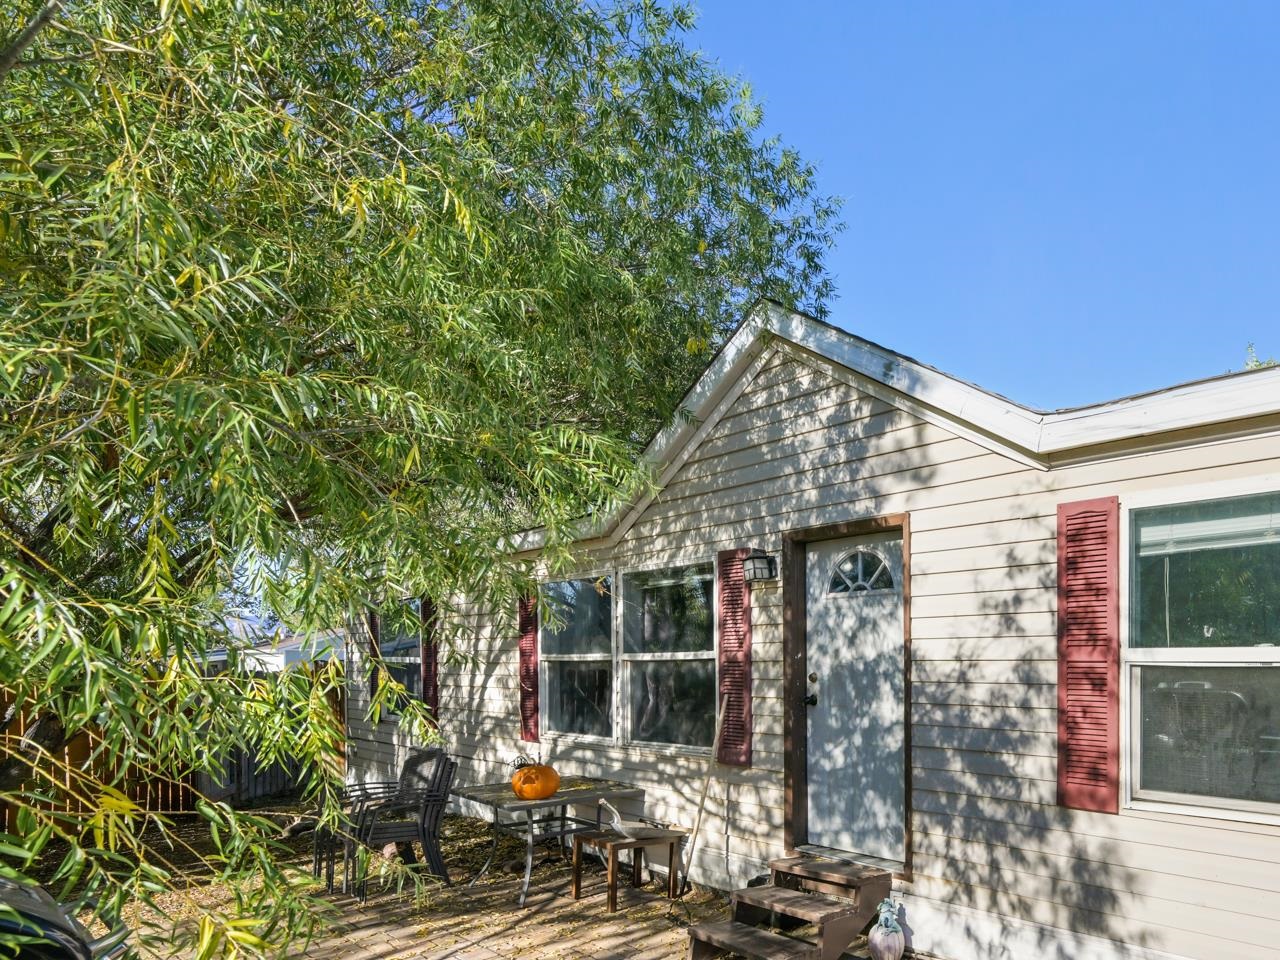
[(622, 573), (617, 598), (613, 584), (602, 576), (541, 588), (545, 728), (709, 748), (716, 736), (714, 564)]

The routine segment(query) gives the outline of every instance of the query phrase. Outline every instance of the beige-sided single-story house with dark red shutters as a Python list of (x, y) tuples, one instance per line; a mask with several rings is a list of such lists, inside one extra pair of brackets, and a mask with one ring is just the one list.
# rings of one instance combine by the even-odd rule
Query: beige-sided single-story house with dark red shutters
[(425, 648), (460, 781), (690, 823), (723, 701), (696, 881), (887, 865), (954, 960), (1280, 955), (1280, 369), (1039, 412), (762, 303), (684, 406), (541, 611)]

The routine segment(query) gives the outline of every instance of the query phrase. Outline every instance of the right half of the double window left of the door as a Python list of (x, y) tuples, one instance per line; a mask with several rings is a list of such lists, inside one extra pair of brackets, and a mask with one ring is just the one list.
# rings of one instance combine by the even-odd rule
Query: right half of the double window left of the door
[(716, 580), (700, 563), (622, 577), (622, 662), (632, 741), (710, 746)]

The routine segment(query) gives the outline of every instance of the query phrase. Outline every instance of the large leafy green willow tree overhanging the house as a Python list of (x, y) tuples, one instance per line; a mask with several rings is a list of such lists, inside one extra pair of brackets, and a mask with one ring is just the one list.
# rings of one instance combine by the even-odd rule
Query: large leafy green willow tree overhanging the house
[[(5, 5), (0, 874), (172, 887), (122, 778), (232, 746), (300, 756), (332, 806), (337, 668), (206, 676), (228, 598), (302, 631), (404, 589), (509, 602), (504, 535), (635, 495), (751, 298), (822, 310), (833, 206), (689, 26), (641, 0)], [(99, 760), (64, 768), (84, 731)], [(238, 891), (200, 908), (204, 955), (305, 933), (266, 827), (201, 812)]]

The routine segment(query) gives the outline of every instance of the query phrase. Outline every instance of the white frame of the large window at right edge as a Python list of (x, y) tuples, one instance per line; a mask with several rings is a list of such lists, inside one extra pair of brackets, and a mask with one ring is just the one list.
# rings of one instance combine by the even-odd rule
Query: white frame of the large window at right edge
[[(1174, 507), (1179, 504), (1201, 503), (1204, 500), (1225, 500), (1265, 493), (1280, 493), (1280, 474), (1262, 474), (1242, 480), (1219, 480), (1183, 486), (1170, 486), (1160, 490), (1143, 490), (1120, 497), (1120, 801), (1121, 809), (1133, 812), (1169, 813), (1188, 817), (1211, 817), (1222, 820), (1265, 823), (1280, 826), (1280, 804), (1256, 800), (1229, 800), (1226, 797), (1193, 797), (1185, 794), (1161, 794), (1160, 791), (1139, 791), (1138, 771), (1140, 771), (1140, 695), (1137, 687), (1135, 668), (1146, 666), (1188, 666), (1188, 667), (1280, 667), (1280, 646), (1222, 646), (1208, 655), (1203, 648), (1148, 648), (1130, 646), (1132, 612), (1132, 525), (1133, 511), (1151, 507)], [(1271, 655), (1261, 655), (1260, 650), (1272, 649)]]

